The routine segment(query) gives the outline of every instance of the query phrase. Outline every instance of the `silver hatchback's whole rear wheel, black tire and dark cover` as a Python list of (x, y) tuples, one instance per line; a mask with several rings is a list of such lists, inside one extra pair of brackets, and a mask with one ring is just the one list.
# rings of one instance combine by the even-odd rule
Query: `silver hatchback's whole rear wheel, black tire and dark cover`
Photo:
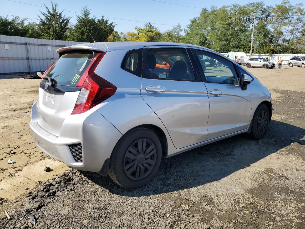
[[(144, 144), (145, 150), (149, 151), (142, 153), (141, 147)], [(149, 157), (145, 158), (145, 154)], [(114, 147), (108, 174), (122, 187), (142, 187), (155, 176), (161, 157), (162, 147), (156, 133), (144, 127), (136, 127), (125, 133)]]

